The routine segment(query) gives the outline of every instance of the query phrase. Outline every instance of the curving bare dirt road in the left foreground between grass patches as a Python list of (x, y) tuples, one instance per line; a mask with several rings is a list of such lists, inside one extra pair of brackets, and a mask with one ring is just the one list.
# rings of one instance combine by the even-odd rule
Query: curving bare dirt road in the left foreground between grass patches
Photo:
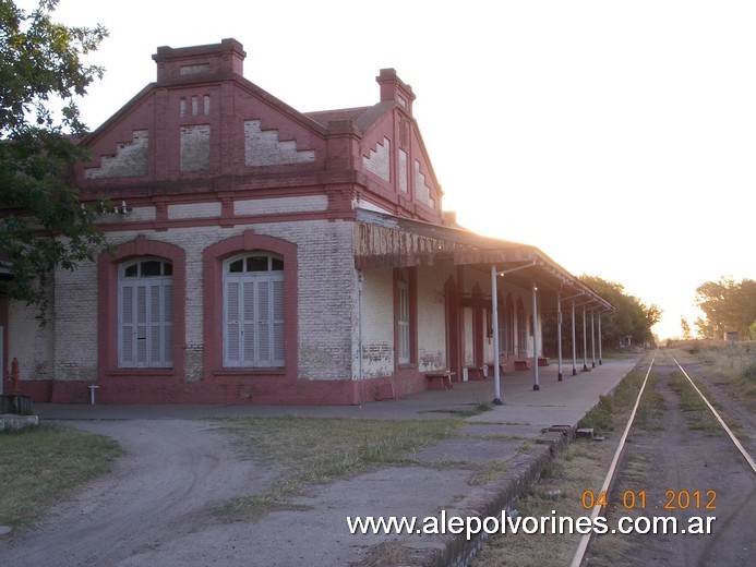
[[(274, 473), (237, 456), (213, 424), (184, 420), (68, 422), (108, 435), (127, 450), (112, 474), (58, 505), (33, 531), (4, 540), (0, 564), (15, 566), (235, 565), (193, 533), (212, 527), (209, 509), (224, 499), (264, 490)], [(225, 530), (218, 543), (243, 546)], [(239, 542), (235, 542), (235, 538)], [(249, 565), (254, 550), (237, 553)], [(251, 554), (251, 555), (250, 555)], [(242, 558), (247, 558), (242, 563)], [(159, 563), (163, 565), (163, 563)]]

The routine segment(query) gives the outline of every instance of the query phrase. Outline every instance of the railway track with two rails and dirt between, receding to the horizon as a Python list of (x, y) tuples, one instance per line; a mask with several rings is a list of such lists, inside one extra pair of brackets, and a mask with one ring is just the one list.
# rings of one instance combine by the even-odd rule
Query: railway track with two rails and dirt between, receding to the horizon
[[(652, 395), (663, 410), (637, 427)], [(672, 352), (657, 351), (601, 488), (583, 495), (607, 532), (583, 535), (573, 567), (754, 565), (756, 462), (716, 406)], [(741, 414), (741, 435), (754, 420)]]

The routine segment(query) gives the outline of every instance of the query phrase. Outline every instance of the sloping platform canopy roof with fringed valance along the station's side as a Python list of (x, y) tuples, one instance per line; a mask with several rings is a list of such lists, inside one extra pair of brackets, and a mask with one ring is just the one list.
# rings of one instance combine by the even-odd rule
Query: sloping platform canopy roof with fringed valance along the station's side
[(358, 269), (432, 266), (444, 262), (487, 272), (495, 266), (516, 285), (529, 287), (536, 282), (539, 289), (559, 292), (562, 299), (572, 298), (585, 309), (614, 311), (611, 303), (536, 246), (361, 208), (357, 209), (357, 221), (355, 265)]

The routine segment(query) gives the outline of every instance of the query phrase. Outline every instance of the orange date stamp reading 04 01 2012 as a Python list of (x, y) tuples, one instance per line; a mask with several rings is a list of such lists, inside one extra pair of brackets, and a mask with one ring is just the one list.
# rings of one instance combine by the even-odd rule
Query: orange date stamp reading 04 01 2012
[[(617, 502), (609, 502), (607, 491), (598, 494), (593, 491), (583, 491), (580, 497), (586, 510), (595, 506), (602, 508), (647, 510), (651, 506), (648, 502), (648, 491), (624, 491)], [(716, 510), (717, 491), (664, 491), (663, 504), (652, 505), (652, 509), (664, 510)]]

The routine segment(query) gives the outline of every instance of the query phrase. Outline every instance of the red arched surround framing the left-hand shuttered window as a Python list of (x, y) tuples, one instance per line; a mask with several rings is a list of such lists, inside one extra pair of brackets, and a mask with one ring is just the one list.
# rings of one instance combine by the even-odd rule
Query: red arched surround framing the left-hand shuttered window
[[(159, 256), (173, 266), (173, 367), (167, 369), (119, 369), (118, 367), (118, 266), (140, 256)], [(165, 242), (136, 237), (112, 252), (99, 255), (97, 262), (99, 284), (98, 313), (98, 360), (97, 376), (145, 376), (156, 373), (183, 379), (184, 345), (187, 335), (187, 253), (183, 249)]]

